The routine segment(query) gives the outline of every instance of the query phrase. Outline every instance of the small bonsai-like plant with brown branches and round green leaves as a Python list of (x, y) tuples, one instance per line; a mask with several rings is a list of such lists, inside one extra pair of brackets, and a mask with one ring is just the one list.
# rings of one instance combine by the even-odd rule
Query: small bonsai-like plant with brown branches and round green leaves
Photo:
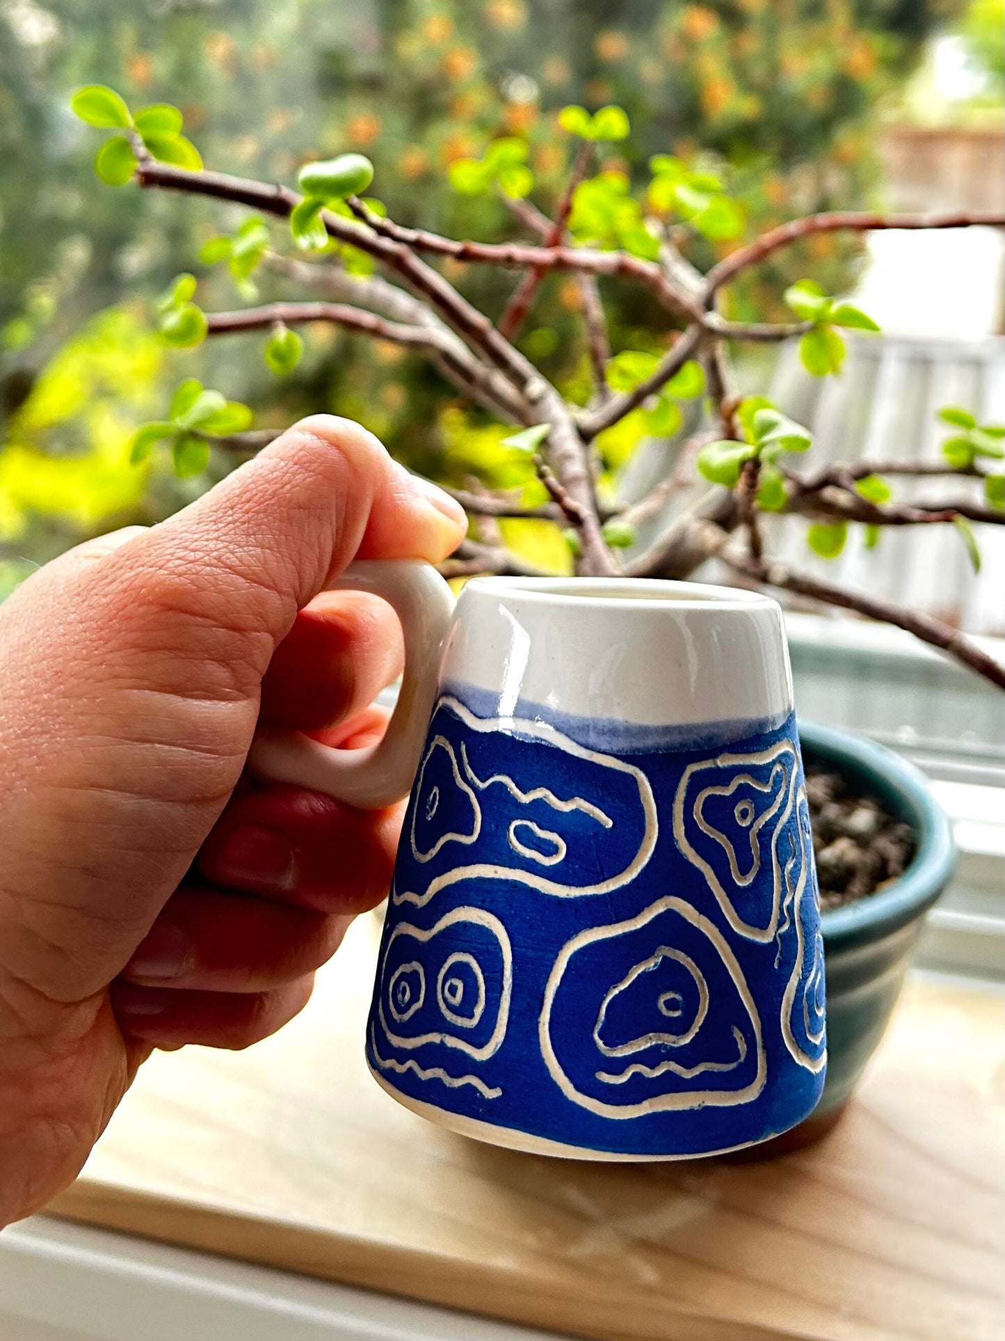
[[(477, 410), (480, 417), (465, 420), (470, 430), (494, 432), (492, 441), (508, 449), (503, 457), (519, 463), (501, 472), (516, 487), (488, 487), (500, 483), (492, 477), (500, 471), (488, 468), (481, 479), (453, 488), (472, 524), (442, 566), (446, 575), (545, 571), (503, 539), (505, 520), (533, 519), (551, 523), (561, 538), (557, 567), (564, 562), (584, 575), (682, 579), (714, 557), (745, 583), (907, 629), (1005, 688), (1005, 669), (957, 629), (775, 561), (765, 534), (765, 518), (796, 514), (807, 520), (809, 547), (835, 557), (851, 527), (864, 527), (867, 543), (875, 544), (890, 526), (954, 526), (977, 565), (972, 522), (1005, 523), (1005, 426), (978, 424), (966, 409), (946, 406), (939, 412), (946, 441), (938, 464), (856, 461), (800, 471), (793, 463), (811, 447), (811, 433), (765, 398), (737, 393), (734, 350), (797, 339), (805, 367), (827, 377), (842, 366), (843, 331), (876, 326), (813, 279), (785, 291), (791, 320), (733, 320), (728, 308), (738, 276), (803, 239), (880, 228), (1002, 227), (1005, 215), (817, 213), (744, 240), (742, 212), (708, 161), (655, 156), (647, 188), (635, 194), (624, 172), (595, 172), (599, 146), (630, 134), (624, 110), (606, 106), (591, 115), (570, 106), (557, 115), (556, 133), (575, 141), (574, 166), (551, 200), (533, 198), (539, 192), (520, 137), (496, 138), (478, 157), (454, 162), (457, 190), (492, 193), (512, 215), (515, 240), (481, 243), (397, 224), (366, 194), (373, 168), (358, 153), (304, 164), (295, 190), (206, 170), (182, 134), (181, 113), (169, 105), (134, 113), (113, 90), (91, 86), (75, 95), (74, 110), (111, 131), (96, 158), (98, 174), (110, 185), (134, 181), (248, 211), (234, 232), (202, 251), (205, 264), (229, 267), (248, 306), (204, 312), (196, 278), (182, 274), (158, 306), (165, 341), (194, 347), (260, 331), (267, 363), (283, 375), (302, 355), (303, 327), (336, 326), (373, 338), (378, 350), (419, 351), (452, 385), (458, 408)], [(708, 240), (720, 259), (702, 272), (690, 257), (695, 241)], [(452, 282), (468, 266), (515, 274), (500, 311), (473, 306)], [(252, 276), (260, 270), (310, 296), (256, 304)], [(541, 373), (533, 350), (547, 342), (536, 342), (528, 329), (541, 284), (556, 274), (575, 286), (582, 323), (584, 374), (568, 386)], [(600, 286), (615, 283), (645, 292), (647, 310), (657, 314), (641, 347), (610, 347)], [(614, 468), (626, 439), (675, 433), (689, 402), (702, 402), (705, 417), (681, 444), (674, 469), (649, 498), (631, 504), (619, 499)], [(248, 406), (188, 378), (166, 416), (139, 429), (133, 456), (139, 463), (166, 448), (180, 475), (198, 475), (210, 460), (237, 461), (275, 436), (251, 424)], [(662, 515), (673, 495), (689, 487), (690, 471), (710, 487), (641, 546), (639, 523)], [(891, 483), (898, 476), (945, 476), (946, 499), (898, 502)], [(982, 502), (962, 496), (962, 485), (974, 479)]]

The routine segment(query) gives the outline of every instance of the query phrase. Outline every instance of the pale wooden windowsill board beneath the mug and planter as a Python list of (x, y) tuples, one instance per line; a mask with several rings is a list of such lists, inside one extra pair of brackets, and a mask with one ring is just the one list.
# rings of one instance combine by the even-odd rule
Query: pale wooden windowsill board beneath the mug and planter
[(839, 1126), (760, 1164), (452, 1136), (362, 1057), (377, 921), (243, 1053), (157, 1054), (52, 1214), (604, 1341), (998, 1341), (1005, 998), (915, 976)]

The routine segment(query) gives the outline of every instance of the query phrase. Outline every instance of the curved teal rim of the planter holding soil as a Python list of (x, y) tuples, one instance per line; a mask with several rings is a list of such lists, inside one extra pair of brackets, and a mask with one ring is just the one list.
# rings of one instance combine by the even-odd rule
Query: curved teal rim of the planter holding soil
[(957, 848), (949, 819), (925, 774), (886, 746), (813, 721), (800, 721), (799, 735), (807, 754), (859, 776), (917, 834), (918, 850), (902, 876), (879, 893), (821, 915), (829, 949), (879, 940), (930, 908), (953, 876)]

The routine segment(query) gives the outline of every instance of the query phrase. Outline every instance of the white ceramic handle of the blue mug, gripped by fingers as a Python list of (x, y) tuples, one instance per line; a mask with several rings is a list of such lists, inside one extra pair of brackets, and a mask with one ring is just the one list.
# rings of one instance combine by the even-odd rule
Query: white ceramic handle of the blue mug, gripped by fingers
[(375, 746), (339, 750), (299, 731), (259, 727), (248, 763), (268, 782), (288, 782), (362, 810), (381, 810), (401, 801), (415, 776), (454, 597), (422, 559), (360, 559), (324, 590), (373, 591), (401, 620), (405, 672), (387, 731)]

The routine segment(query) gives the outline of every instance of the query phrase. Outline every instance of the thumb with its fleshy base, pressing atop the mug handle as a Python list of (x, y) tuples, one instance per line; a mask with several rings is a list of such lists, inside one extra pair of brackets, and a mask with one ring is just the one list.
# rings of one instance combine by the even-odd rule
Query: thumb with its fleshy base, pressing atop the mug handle
[(370, 433), (315, 417), (0, 606), (0, 921), (20, 907), (5, 952), (39, 991), (121, 971), (237, 782), (297, 609), (356, 554), (437, 561), (464, 526)]

